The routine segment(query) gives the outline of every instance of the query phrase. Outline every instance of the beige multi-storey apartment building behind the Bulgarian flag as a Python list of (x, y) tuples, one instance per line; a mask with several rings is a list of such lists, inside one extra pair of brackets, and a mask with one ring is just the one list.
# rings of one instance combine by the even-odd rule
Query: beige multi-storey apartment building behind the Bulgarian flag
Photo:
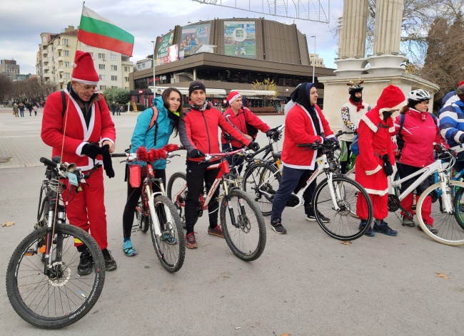
[(77, 41), (77, 29), (74, 26), (65, 28), (63, 33), (41, 33), (36, 60), (39, 81), (54, 82), (59, 89), (65, 88), (71, 80), (76, 50), (87, 51), (94, 58), (95, 69), (100, 77), (99, 90), (129, 90), (129, 73), (133, 72), (133, 63), (129, 57)]

